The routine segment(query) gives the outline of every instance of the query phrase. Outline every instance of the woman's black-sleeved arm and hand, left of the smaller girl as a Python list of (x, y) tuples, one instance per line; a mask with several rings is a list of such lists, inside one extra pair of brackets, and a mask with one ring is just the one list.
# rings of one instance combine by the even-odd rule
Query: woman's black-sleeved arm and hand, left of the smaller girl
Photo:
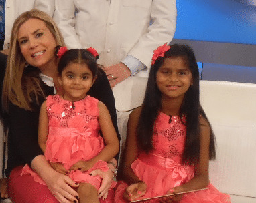
[(71, 188), (76, 187), (74, 181), (68, 176), (56, 172), (38, 145), (38, 114), (39, 112), (27, 111), (10, 104), (8, 142), (11, 155), (8, 154), (8, 167), (27, 163), (46, 182), (50, 192), (60, 202), (69, 203), (70, 201), (66, 198), (72, 202), (77, 201), (75, 196), (78, 196), (78, 193)]

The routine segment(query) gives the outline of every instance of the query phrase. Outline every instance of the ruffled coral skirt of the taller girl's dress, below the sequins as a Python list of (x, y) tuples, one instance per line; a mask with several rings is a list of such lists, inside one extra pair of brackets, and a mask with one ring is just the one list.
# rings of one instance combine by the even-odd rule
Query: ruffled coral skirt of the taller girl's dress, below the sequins
[[(141, 154), (131, 164), (131, 168), (133, 168), (133, 172), (139, 177), (139, 180), (143, 180), (147, 184), (147, 192), (140, 199), (165, 195), (171, 188), (180, 186), (194, 177), (192, 166), (183, 166), (170, 158), (163, 158), (155, 154)], [(127, 186), (123, 181), (117, 182), (115, 203), (127, 202), (123, 199)], [(230, 202), (229, 195), (222, 194), (212, 184), (209, 184), (207, 188), (206, 190), (184, 194), (180, 202)], [(152, 199), (145, 202), (156, 203), (159, 200)]]

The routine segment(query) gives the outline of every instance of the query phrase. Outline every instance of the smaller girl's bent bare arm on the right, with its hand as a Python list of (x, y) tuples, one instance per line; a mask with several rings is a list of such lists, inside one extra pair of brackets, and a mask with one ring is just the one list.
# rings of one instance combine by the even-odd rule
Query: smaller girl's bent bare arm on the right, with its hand
[(97, 156), (88, 161), (79, 161), (74, 164), (70, 170), (86, 171), (99, 160), (109, 162), (119, 152), (119, 140), (117, 139), (117, 133), (111, 122), (111, 116), (105, 104), (101, 101), (98, 102), (99, 108), (99, 125), (105, 141), (105, 148), (101, 150)]

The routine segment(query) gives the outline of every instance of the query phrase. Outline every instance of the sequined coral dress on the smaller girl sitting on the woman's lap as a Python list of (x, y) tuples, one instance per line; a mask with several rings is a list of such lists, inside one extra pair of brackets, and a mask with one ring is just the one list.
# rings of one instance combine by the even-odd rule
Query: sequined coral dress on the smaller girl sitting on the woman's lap
[[(103, 138), (99, 134), (98, 100), (87, 95), (74, 102), (62, 99), (59, 95), (46, 98), (48, 114), (48, 138), (44, 155), (50, 162), (60, 162), (67, 170), (80, 160), (90, 160), (104, 148)], [(68, 176), (75, 182), (88, 182), (99, 189), (99, 176), (90, 176), (95, 169), (109, 170), (107, 162), (98, 161), (90, 170), (80, 172), (72, 170)], [(21, 175), (31, 174), (34, 180), (45, 184), (44, 180), (28, 165), (24, 166)], [(115, 186), (112, 183), (111, 188)]]

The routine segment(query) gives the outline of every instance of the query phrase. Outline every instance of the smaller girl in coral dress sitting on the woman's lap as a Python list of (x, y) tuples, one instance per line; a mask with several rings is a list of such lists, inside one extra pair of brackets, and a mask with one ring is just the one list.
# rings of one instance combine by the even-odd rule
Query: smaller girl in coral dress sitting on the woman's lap
[[(99, 202), (101, 178), (91, 172), (109, 170), (107, 162), (119, 151), (119, 141), (107, 107), (87, 95), (96, 79), (98, 54), (92, 48), (62, 47), (58, 57), (58, 82), (64, 93), (50, 95), (42, 104), (38, 143), (52, 168), (79, 184), (79, 202)], [(22, 174), (45, 184), (28, 166)]]

